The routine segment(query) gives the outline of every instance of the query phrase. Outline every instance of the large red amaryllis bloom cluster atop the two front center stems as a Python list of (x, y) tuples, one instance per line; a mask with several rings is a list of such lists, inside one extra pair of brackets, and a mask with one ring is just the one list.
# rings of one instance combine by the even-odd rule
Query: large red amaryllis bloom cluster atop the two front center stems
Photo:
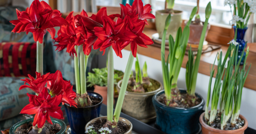
[[(91, 17), (87, 14), (78, 15), (77, 20), (73, 22), (76, 22), (76, 39), (80, 43), (76, 42), (74, 45), (81, 45), (83, 42), (85, 55), (90, 54), (92, 46), (93, 49), (100, 49), (103, 52), (107, 47), (112, 46), (116, 55), (122, 58), (121, 50), (128, 44), (131, 44), (134, 57), (136, 57), (137, 45), (147, 48), (147, 45), (153, 44), (153, 41), (142, 33), (145, 24), (148, 25), (146, 19), (155, 19), (155, 16), (150, 13), (151, 5), (143, 6), (141, 0), (135, 0), (132, 6), (129, 4), (125, 6), (120, 4), (120, 6), (121, 15), (108, 16), (106, 7), (101, 8), (96, 15), (93, 14)], [(115, 17), (117, 20), (113, 21)], [(65, 33), (62, 35), (65, 36)]]

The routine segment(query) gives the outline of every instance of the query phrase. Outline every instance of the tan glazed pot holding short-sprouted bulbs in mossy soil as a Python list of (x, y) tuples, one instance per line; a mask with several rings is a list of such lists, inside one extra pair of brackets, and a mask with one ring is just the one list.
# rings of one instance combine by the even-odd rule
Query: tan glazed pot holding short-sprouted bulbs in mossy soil
[[(120, 80), (117, 83), (116, 88), (118, 92), (120, 91), (122, 81), (123, 80)], [(160, 87), (155, 91), (145, 93), (126, 91), (122, 112), (144, 123), (155, 120), (156, 111), (152, 103), (152, 97), (163, 88), (161, 82), (157, 82), (160, 83)]]

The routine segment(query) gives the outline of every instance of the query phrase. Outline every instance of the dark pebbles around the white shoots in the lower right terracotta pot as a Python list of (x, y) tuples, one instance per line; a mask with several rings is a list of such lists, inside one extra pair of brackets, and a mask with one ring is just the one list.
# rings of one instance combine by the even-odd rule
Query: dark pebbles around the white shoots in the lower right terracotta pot
[[(210, 117), (210, 113), (208, 113), (208, 114)], [(206, 124), (208, 124), (207, 121), (205, 120), (204, 116), (203, 116), (203, 120)], [(244, 120), (241, 120), (241, 118), (238, 118), (238, 120), (236, 121), (236, 124), (234, 124), (234, 126), (231, 126), (230, 120), (231, 120), (231, 117), (229, 118), (227, 125), (223, 128), (223, 130), (236, 130), (236, 129), (239, 129), (244, 126)], [(221, 124), (220, 122), (221, 122), (221, 116), (219, 116), (217, 114), (214, 122), (210, 123), (209, 126), (216, 128), (216, 129), (220, 129), (220, 124)]]

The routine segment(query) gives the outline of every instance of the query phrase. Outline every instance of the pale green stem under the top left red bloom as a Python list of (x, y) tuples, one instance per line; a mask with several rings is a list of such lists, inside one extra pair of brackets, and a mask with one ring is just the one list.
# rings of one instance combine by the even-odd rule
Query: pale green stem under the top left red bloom
[(36, 42), (36, 71), (43, 75), (43, 50), (44, 42), (41, 44)]

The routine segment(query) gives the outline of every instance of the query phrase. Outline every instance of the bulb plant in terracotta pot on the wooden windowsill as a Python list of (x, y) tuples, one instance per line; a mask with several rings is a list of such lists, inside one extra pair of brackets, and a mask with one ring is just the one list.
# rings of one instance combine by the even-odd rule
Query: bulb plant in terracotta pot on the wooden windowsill
[[(197, 1), (197, 8), (198, 8), (198, 10), (196, 12), (195, 21), (192, 21), (191, 25), (189, 26), (190, 34), (189, 34), (188, 43), (193, 46), (196, 45), (196, 47), (198, 48), (198, 45), (200, 42), (200, 37), (201, 37), (203, 26), (204, 26), (204, 22), (201, 22), (200, 16), (198, 14), (199, 13), (199, 0)], [(187, 22), (185, 22), (185, 24), (186, 23)], [(204, 40), (207, 37), (210, 27), (211, 27), (211, 25), (208, 23)]]

